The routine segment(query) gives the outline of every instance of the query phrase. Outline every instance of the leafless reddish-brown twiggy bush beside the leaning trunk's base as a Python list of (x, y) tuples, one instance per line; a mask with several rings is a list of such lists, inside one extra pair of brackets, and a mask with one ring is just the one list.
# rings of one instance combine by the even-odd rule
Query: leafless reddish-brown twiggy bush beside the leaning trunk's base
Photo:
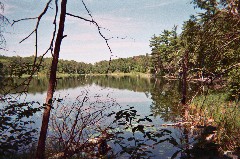
[[(50, 118), (49, 139), (50, 145), (58, 145), (58, 149), (53, 147), (53, 154), (48, 155), (50, 158), (69, 158), (78, 153), (86, 153), (88, 158), (92, 158), (110, 150), (107, 140), (113, 135), (108, 132), (111, 122), (106, 114), (118, 106), (115, 99), (90, 95), (84, 89), (75, 102), (67, 104), (65, 99), (64, 103), (56, 100), (55, 104)], [(96, 153), (94, 149), (98, 149)]]

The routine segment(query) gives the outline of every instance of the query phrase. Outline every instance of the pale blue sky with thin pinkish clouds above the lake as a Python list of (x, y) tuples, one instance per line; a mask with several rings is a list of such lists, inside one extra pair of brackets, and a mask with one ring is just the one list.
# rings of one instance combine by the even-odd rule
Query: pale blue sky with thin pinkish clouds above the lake
[[(37, 17), (48, 0), (1, 0), (4, 15), (13, 22), (22, 18)], [(54, 0), (53, 0), (54, 2)], [(170, 30), (174, 25), (181, 32), (182, 24), (196, 14), (191, 0), (84, 0), (94, 20), (103, 28), (102, 34), (110, 38), (110, 53), (105, 40), (94, 24), (66, 16), (60, 59), (95, 63), (100, 60), (125, 58), (151, 53), (149, 40)], [(59, 5), (60, 6), (60, 5)], [(67, 12), (90, 19), (81, 0), (68, 0)], [(38, 30), (38, 55), (49, 47), (53, 32), (54, 3), (43, 16)], [(35, 36), (19, 43), (35, 28), (36, 20), (25, 20), (5, 27), (5, 56), (31, 56), (35, 53)], [(51, 54), (47, 54), (51, 56)]]

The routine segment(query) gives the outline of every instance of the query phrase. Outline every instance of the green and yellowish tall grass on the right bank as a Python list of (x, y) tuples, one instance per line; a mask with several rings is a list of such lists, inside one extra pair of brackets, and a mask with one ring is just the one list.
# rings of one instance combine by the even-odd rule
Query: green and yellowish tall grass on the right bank
[(195, 122), (217, 127), (213, 140), (221, 152), (240, 148), (240, 103), (227, 99), (228, 94), (224, 92), (209, 93), (197, 96), (190, 105), (194, 119), (200, 119)]

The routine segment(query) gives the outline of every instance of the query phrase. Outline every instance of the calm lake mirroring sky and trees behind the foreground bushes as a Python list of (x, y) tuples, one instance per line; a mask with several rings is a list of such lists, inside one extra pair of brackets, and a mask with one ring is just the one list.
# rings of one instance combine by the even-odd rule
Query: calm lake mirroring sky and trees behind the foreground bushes
[[(34, 78), (29, 86), (29, 93), (18, 97), (18, 100), (38, 101), (39, 105), (43, 105), (46, 98), (47, 84), (48, 80), (46, 78)], [(197, 84), (189, 84), (188, 94), (194, 93), (197, 86)], [(67, 123), (65, 126), (70, 125), (71, 127), (74, 121), (72, 118), (75, 118), (76, 112), (78, 112), (75, 106), (81, 105), (81, 111), (84, 110), (84, 112), (80, 114), (85, 115), (84, 117), (86, 117), (86, 113), (94, 113), (94, 111), (98, 111), (103, 107), (101, 113), (104, 115), (101, 114), (99, 121), (94, 122), (92, 125), (94, 125), (95, 131), (97, 129), (96, 124), (99, 127), (113, 124), (113, 128), (110, 128), (109, 131), (122, 134), (122, 136), (119, 135), (115, 140), (108, 142), (112, 151), (117, 153), (117, 158), (146, 156), (163, 159), (187, 158), (187, 156), (201, 158), (205, 154), (214, 156), (213, 152), (203, 154), (193, 148), (197, 142), (194, 140), (193, 130), (166, 126), (166, 124), (173, 124), (181, 120), (180, 90), (181, 83), (178, 80), (166, 80), (164, 78), (140, 78), (137, 76), (60, 78), (54, 94), (55, 108), (52, 111), (53, 116), (58, 117), (51, 120), (52, 122), (50, 121), (49, 137), (59, 135), (54, 131), (57, 126), (56, 123), (54, 124), (55, 121), (62, 124), (65, 121)], [(16, 97), (17, 95), (13, 96)], [(72, 110), (75, 113), (72, 113)], [(118, 113), (118, 115), (121, 114), (122, 116), (118, 117), (118, 120), (113, 123), (112, 121), (116, 118), (108, 117), (109, 114), (117, 115), (116, 113), (120, 111), (124, 112), (125, 115), (124, 113)], [(65, 118), (68, 112), (71, 114), (68, 116), (69, 119)], [(126, 114), (129, 116), (126, 117)], [(35, 121), (31, 127), (38, 129), (41, 126), (41, 118), (41, 112), (36, 113), (31, 118)], [(129, 124), (129, 118), (131, 118), (133, 124), (131, 121)], [(137, 124), (143, 125), (144, 131)], [(86, 133), (87, 131), (94, 134), (93, 130), (84, 130), (83, 132)], [(124, 149), (124, 152), (121, 152), (122, 149)], [(201, 149), (201, 152), (205, 151)], [(130, 154), (134, 155), (131, 156)]]

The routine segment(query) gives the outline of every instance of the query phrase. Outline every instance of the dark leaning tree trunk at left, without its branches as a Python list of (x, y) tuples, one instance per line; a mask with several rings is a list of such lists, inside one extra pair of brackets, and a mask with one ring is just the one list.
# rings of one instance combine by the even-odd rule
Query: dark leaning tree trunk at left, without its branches
[(61, 42), (63, 39), (66, 6), (67, 6), (67, 0), (62, 0), (59, 28), (58, 28), (58, 33), (57, 33), (56, 42), (54, 46), (54, 54), (52, 59), (50, 79), (49, 79), (47, 98), (46, 98), (46, 107), (43, 112), (42, 127), (41, 127), (41, 132), (38, 140), (37, 152), (35, 157), (36, 159), (44, 159), (48, 122), (50, 117), (50, 111), (52, 108), (53, 93), (56, 87), (56, 72), (57, 72), (58, 58), (59, 58)]

